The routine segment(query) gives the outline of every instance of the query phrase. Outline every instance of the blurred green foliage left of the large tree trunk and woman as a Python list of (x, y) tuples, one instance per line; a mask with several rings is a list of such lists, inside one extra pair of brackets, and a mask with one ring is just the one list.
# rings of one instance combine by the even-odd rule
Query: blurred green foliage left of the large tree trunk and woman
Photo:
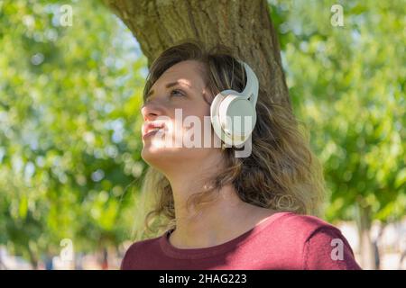
[(32, 261), (62, 238), (116, 246), (144, 170), (146, 59), (98, 1), (0, 3), (0, 244)]

